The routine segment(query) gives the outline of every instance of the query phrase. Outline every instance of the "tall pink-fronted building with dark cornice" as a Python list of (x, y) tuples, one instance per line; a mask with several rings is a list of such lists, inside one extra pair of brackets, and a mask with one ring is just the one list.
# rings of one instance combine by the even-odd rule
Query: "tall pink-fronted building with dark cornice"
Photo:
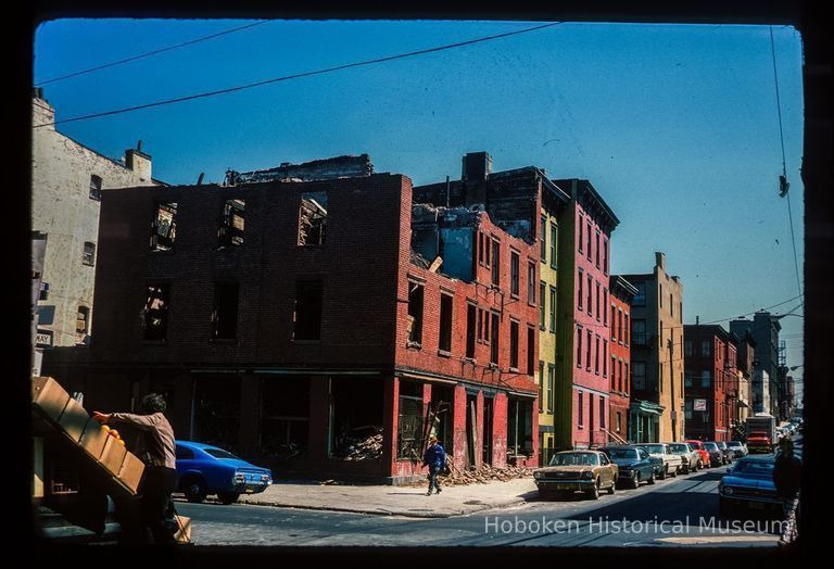
[(559, 217), (556, 443), (608, 442), (609, 239), (619, 219), (589, 180), (553, 180), (570, 202)]

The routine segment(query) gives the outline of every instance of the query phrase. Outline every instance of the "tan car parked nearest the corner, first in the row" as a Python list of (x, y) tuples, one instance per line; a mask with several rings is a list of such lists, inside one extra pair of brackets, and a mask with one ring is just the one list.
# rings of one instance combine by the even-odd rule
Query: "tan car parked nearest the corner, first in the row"
[(551, 458), (549, 465), (533, 471), (539, 495), (581, 490), (590, 498), (599, 497), (601, 490), (614, 494), (619, 468), (605, 453), (598, 451), (563, 451)]

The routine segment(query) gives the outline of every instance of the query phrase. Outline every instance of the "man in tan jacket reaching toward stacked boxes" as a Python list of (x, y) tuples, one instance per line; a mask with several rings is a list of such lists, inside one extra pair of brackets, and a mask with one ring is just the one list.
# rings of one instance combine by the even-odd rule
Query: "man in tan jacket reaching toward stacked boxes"
[(141, 496), (142, 541), (150, 530), (154, 543), (174, 543), (174, 535), (165, 523), (173, 509), (170, 493), (176, 481), (174, 429), (165, 418), (165, 399), (159, 393), (142, 397), (139, 415), (131, 413), (93, 412), (92, 418), (103, 423), (129, 425), (139, 431), (134, 454), (144, 463), (139, 484)]

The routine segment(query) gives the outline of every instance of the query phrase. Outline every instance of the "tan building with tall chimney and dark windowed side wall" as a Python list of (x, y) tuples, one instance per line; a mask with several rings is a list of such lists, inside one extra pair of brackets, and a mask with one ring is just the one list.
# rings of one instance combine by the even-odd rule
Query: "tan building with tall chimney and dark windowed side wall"
[(659, 252), (653, 273), (623, 278), (637, 289), (631, 308), (631, 439), (682, 440), (683, 283), (666, 271)]

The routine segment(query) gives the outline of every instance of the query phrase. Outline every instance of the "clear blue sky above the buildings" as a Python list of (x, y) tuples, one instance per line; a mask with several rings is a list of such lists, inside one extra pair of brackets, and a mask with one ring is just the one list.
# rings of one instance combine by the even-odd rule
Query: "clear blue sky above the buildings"
[[(49, 22), (36, 34), (35, 83), (248, 22)], [(45, 85), (45, 97), (71, 118), (539, 24), (271, 21)], [(801, 39), (781, 25), (773, 36), (801, 270)], [(495, 170), (587, 178), (621, 220), (612, 271), (650, 271), (664, 251), (694, 323), (798, 294), (776, 111), (767, 26), (564, 23), (58, 128), (113, 157), (142, 139), (154, 176), (172, 184), (367, 152), (377, 172), (419, 185), (459, 177), (460, 156), (480, 150)], [(803, 319), (782, 324), (788, 365), (800, 365)]]

